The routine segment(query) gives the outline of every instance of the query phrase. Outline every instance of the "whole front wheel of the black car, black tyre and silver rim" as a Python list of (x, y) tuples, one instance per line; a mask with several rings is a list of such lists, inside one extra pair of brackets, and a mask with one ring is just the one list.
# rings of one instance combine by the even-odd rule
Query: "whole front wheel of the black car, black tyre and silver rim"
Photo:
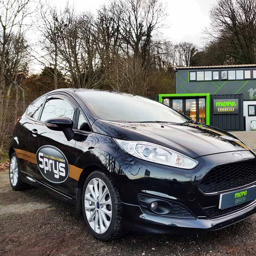
[(112, 240), (125, 234), (120, 194), (112, 179), (100, 170), (92, 172), (84, 183), (82, 211), (88, 229), (97, 239)]

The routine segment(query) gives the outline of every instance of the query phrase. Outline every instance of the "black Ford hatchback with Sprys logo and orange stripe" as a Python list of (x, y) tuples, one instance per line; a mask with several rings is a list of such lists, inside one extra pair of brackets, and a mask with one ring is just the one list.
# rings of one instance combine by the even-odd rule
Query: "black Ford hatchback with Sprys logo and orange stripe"
[(256, 156), (233, 135), (145, 97), (59, 89), (32, 102), (10, 143), (14, 190), (75, 204), (98, 239), (205, 233), (256, 213)]

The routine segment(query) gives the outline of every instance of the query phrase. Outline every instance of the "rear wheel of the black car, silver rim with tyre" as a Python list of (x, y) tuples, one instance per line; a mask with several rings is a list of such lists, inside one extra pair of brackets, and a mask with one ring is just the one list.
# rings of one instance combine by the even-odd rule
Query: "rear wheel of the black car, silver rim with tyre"
[(10, 185), (12, 186), (12, 189), (15, 191), (24, 190), (29, 187), (29, 184), (21, 180), (21, 168), (16, 153), (13, 153), (10, 157), (9, 178)]

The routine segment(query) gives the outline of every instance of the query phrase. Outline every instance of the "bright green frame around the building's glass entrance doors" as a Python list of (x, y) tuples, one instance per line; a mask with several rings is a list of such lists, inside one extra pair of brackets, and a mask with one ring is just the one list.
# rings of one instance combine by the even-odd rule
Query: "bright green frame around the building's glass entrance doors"
[(159, 102), (163, 103), (163, 98), (173, 98), (173, 97), (205, 97), (205, 113), (206, 125), (210, 125), (210, 94), (209, 93), (196, 93), (196, 94), (159, 94)]

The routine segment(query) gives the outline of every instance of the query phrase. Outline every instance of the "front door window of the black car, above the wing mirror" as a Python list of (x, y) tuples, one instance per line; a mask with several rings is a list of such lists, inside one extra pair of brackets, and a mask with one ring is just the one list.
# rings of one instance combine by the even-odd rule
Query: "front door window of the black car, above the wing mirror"
[(50, 118), (68, 117), (74, 122), (76, 109), (77, 107), (66, 97), (53, 96), (46, 100), (40, 120), (45, 122)]

